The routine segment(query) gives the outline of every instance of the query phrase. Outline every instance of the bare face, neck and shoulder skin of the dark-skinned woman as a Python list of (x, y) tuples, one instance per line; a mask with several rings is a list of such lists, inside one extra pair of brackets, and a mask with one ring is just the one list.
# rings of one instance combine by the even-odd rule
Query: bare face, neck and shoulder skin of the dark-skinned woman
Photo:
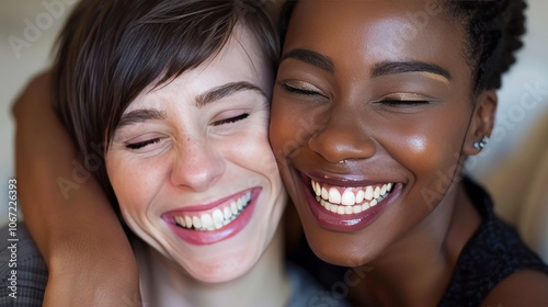
[[(425, 8), (421, 0), (299, 2), (274, 89), (271, 143), (310, 247), (327, 262), (373, 268), (351, 287), (359, 305), (435, 306), (481, 223), (459, 166), (490, 135), (496, 94), (472, 93), (457, 23), (439, 11), (424, 26), (406, 18)], [(339, 215), (357, 226), (336, 228), (313, 213), (324, 208), (310, 196), (312, 179), (341, 191), (393, 189), (367, 217)], [(540, 273), (514, 275), (486, 304), (512, 303), (517, 293), (527, 306), (529, 289), (515, 284), (548, 285)]]

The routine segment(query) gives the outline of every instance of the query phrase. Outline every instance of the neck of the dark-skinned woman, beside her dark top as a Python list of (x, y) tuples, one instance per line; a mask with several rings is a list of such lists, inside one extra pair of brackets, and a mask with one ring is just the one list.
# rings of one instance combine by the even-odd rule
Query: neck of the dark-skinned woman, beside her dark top
[(436, 306), (449, 284), (460, 251), (481, 224), (456, 184), (412, 231), (368, 266), (356, 289), (368, 306)]

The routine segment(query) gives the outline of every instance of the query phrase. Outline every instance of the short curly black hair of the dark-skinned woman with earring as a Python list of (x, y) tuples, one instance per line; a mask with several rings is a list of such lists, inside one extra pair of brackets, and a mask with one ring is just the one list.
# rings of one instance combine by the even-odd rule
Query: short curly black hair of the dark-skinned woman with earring
[[(516, 61), (515, 53), (523, 46), (525, 0), (439, 0), (448, 16), (466, 33), (464, 57), (472, 68), (473, 93), (499, 89), (502, 75)], [(288, 0), (279, 19), (279, 37), (285, 34), (298, 0)]]

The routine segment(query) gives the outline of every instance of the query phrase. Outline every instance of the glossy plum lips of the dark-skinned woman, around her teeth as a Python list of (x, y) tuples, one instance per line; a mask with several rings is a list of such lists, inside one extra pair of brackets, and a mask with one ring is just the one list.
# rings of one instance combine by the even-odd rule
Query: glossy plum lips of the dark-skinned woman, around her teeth
[[(310, 180), (311, 178), (300, 173), (300, 179), (301, 183), (304, 185), (306, 198), (308, 202), (308, 208), (310, 211), (310, 214), (312, 217), (316, 219), (316, 221), (322, 227), (327, 228), (330, 230), (334, 231), (341, 231), (341, 232), (351, 232), (351, 231), (356, 231), (362, 228), (367, 227), (370, 225), (377, 217), (385, 211), (385, 208), (395, 200), (398, 197), (401, 193), (401, 190), (403, 185), (401, 183), (396, 183), (392, 186), (392, 191), (388, 194), (388, 196), (383, 200), (380, 203), (375, 205), (374, 207), (368, 208), (365, 212), (361, 212), (357, 214), (349, 214), (349, 215), (339, 215), (332, 212), (327, 211), (324, 207), (322, 207), (318, 201), (316, 201), (316, 195), (312, 193), (310, 189)], [(315, 179), (317, 180), (317, 179)], [(317, 181), (320, 182), (326, 182), (324, 180), (318, 179)], [(326, 182), (328, 183), (328, 182)], [(341, 181), (339, 181), (336, 184), (333, 180), (329, 181), (330, 184), (334, 185), (340, 185), (341, 186)], [(351, 183), (351, 182), (347, 182)], [(370, 185), (370, 184), (376, 184), (380, 182), (372, 182), (372, 183), (364, 183), (362, 182), (359, 185), (357, 182), (352, 181), (353, 184), (351, 185), (342, 185), (342, 186), (359, 186), (359, 185)]]

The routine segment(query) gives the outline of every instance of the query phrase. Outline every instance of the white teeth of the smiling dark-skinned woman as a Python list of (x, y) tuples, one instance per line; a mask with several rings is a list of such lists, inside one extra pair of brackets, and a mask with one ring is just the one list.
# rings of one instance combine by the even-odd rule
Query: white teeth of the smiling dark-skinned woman
[(334, 205), (353, 206), (365, 201), (376, 200), (385, 196), (386, 193), (392, 189), (392, 183), (385, 183), (383, 185), (367, 185), (362, 187), (346, 187), (341, 193), (336, 187), (326, 187), (315, 180), (311, 181), (313, 192), (323, 201), (330, 202)]

